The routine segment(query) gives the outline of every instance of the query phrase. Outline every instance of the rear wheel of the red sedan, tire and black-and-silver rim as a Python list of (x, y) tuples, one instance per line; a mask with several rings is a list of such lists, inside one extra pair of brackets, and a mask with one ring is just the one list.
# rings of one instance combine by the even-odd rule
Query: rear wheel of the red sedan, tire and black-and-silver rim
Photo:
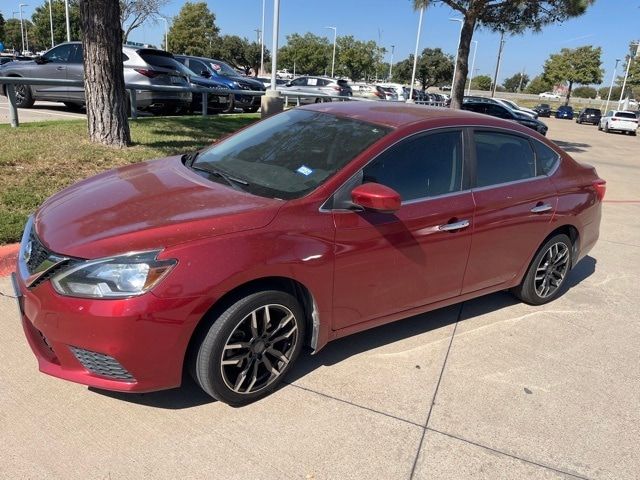
[(550, 238), (531, 261), (522, 283), (513, 289), (514, 295), (529, 305), (542, 305), (556, 298), (571, 269), (572, 251), (566, 235)]

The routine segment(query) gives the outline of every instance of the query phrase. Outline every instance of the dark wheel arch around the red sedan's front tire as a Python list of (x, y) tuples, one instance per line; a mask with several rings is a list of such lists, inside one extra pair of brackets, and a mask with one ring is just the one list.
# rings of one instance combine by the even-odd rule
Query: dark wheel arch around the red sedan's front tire
[(265, 290), (279, 290), (289, 293), (300, 302), (307, 327), (303, 345), (310, 347), (314, 352), (317, 351), (318, 335), (320, 333), (320, 316), (316, 299), (311, 293), (311, 290), (293, 278), (271, 276), (256, 278), (238, 285), (214, 302), (202, 316), (189, 339), (189, 344), (185, 352), (184, 365), (191, 363), (188, 361), (189, 358), (192, 358), (191, 356), (196, 353), (196, 349), (202, 341), (202, 338), (204, 338), (213, 322), (215, 322), (216, 318), (222, 312), (240, 298), (251, 293)]

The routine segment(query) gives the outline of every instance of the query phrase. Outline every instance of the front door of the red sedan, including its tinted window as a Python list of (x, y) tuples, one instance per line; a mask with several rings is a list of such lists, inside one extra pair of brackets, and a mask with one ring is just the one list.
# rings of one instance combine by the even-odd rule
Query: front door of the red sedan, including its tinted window
[(400, 193), (394, 214), (335, 210), (333, 329), (460, 294), (474, 203), (460, 130), (391, 147), (362, 172)]

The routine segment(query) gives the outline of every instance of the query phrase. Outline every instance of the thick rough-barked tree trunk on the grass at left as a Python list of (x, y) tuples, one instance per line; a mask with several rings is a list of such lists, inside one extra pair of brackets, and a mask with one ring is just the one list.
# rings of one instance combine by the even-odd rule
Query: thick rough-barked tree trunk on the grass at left
[(89, 139), (114, 147), (131, 143), (122, 68), (118, 0), (81, 0), (84, 93)]

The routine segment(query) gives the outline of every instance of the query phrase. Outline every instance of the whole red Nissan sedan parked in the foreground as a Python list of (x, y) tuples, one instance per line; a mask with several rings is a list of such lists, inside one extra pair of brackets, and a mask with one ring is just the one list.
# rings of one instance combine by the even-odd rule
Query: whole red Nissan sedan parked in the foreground
[(240, 405), (303, 346), (511, 289), (539, 305), (598, 239), (605, 182), (513, 122), (297, 108), (103, 173), (29, 219), (14, 285), (44, 373)]

